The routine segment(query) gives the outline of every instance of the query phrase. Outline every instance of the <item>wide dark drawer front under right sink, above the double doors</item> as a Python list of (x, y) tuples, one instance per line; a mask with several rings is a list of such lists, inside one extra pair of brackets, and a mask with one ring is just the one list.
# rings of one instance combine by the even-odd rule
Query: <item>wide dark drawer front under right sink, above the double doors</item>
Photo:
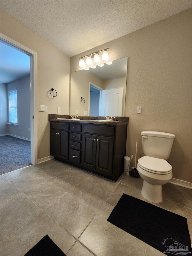
[(115, 133), (115, 127), (99, 126), (99, 125), (84, 125), (83, 132), (113, 136)]

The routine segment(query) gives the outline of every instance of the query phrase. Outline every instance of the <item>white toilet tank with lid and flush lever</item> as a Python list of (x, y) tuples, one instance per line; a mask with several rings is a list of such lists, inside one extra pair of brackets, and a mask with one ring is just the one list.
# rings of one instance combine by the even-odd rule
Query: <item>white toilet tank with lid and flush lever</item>
[(142, 131), (143, 153), (146, 156), (167, 160), (175, 134), (161, 131)]

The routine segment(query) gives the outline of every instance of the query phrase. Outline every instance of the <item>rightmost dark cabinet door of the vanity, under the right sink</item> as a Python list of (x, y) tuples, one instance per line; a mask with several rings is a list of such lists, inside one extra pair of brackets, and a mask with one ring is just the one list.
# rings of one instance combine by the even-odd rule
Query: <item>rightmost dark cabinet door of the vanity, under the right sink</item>
[(112, 174), (114, 138), (97, 136), (96, 170)]

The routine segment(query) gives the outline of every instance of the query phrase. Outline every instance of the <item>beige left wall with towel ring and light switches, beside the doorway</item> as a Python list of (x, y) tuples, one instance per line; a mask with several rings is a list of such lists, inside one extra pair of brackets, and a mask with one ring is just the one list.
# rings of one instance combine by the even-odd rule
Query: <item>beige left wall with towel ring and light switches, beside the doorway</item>
[[(48, 112), (38, 111), (38, 159), (49, 156), (48, 114), (69, 114), (70, 58), (9, 15), (0, 11), (0, 32), (37, 52), (38, 106), (48, 106)], [(54, 88), (57, 97), (50, 97)]]

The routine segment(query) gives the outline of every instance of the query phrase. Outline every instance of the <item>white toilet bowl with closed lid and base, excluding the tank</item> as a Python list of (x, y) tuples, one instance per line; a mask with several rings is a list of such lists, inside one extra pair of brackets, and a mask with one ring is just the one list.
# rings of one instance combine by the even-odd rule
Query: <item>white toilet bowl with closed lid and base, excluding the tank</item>
[(138, 160), (137, 171), (143, 179), (142, 196), (150, 202), (161, 203), (161, 185), (172, 178), (171, 165), (164, 159), (143, 156)]

